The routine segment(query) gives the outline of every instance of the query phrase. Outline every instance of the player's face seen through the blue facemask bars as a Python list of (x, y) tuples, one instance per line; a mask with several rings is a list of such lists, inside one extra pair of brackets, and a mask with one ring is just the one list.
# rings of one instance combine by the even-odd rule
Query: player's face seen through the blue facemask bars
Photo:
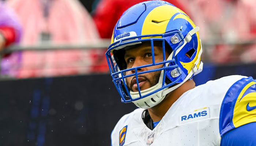
[[(165, 58), (167, 59), (170, 53), (165, 52), (165, 55), (166, 55)], [(163, 61), (162, 47), (154, 46), (154, 56), (155, 56), (155, 63)], [(127, 69), (134, 68), (137, 66), (152, 64), (152, 52), (151, 52), (150, 44), (143, 44), (139, 47), (125, 50), (124, 59), (127, 64)], [(149, 66), (146, 68), (140, 68), (137, 71), (142, 72), (142, 71), (152, 70), (152, 69), (157, 69), (162, 67), (163, 65), (155, 65), (155, 66)], [(135, 70), (126, 72), (126, 75), (132, 74), (132, 73), (135, 73)], [(138, 75), (140, 91), (156, 85), (159, 81), (160, 73), (161, 73), (161, 70), (157, 72), (149, 72), (149, 73)], [(133, 92), (138, 91), (138, 85), (137, 85), (135, 76), (126, 78), (126, 81), (127, 81), (127, 87), (129, 88), (130, 91), (133, 91)]]

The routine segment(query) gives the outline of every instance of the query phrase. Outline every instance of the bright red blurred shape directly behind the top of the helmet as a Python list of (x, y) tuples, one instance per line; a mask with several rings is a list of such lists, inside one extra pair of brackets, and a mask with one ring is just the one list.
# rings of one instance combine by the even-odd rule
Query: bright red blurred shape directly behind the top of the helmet
[[(116, 25), (123, 12), (132, 5), (143, 1), (145, 0), (101, 0), (97, 5), (93, 17), (101, 38), (111, 38), (114, 26)], [(187, 9), (185, 9), (185, 6), (182, 4), (182, 0), (165, 1), (175, 5), (186, 14), (188, 14)]]

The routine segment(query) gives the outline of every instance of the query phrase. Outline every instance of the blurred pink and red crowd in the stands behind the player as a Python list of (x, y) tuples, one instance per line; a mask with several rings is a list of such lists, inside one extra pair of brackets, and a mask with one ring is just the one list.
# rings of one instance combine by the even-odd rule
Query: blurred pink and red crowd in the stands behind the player
[[(79, 0), (0, 0), (0, 50), (15, 44), (96, 44), (112, 36), (126, 9), (144, 0), (91, 1), (96, 7), (88, 12)], [(211, 44), (204, 48), (208, 61), (256, 61), (255, 0), (166, 1), (182, 9), (200, 27), (202, 43)], [(29, 78), (107, 73), (105, 51), (15, 51), (1, 56), (1, 75)]]

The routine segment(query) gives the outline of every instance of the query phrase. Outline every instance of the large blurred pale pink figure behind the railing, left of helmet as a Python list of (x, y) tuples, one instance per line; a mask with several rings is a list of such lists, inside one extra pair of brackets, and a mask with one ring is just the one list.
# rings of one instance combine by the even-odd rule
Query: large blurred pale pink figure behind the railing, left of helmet
[[(93, 19), (78, 0), (8, 0), (7, 4), (22, 24), (21, 45), (79, 45), (99, 40)], [(100, 59), (105, 58), (98, 58), (94, 49), (24, 50), (8, 58), (4, 69), (16, 78), (85, 74), (92, 73)]]

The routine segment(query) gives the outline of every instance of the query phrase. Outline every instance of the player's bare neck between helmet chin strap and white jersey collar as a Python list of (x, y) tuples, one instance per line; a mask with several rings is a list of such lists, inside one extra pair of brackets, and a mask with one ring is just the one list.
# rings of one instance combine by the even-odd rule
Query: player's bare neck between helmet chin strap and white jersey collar
[(148, 113), (150, 114), (150, 117), (153, 120), (153, 122), (157, 122), (161, 120), (163, 116), (166, 114), (166, 112), (169, 110), (169, 108), (172, 106), (172, 104), (183, 93), (193, 88), (195, 88), (195, 82), (193, 80), (188, 80), (184, 84), (182, 84), (179, 88), (167, 94), (165, 99), (161, 103), (154, 106), (153, 108), (149, 108)]

